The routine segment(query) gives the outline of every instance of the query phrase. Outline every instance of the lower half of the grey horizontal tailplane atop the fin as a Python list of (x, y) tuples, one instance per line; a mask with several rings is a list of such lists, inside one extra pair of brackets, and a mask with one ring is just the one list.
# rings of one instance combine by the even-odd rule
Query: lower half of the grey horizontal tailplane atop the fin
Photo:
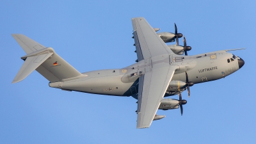
[(53, 52), (47, 54), (40, 54), (38, 56), (29, 56), (26, 58), (25, 62), (23, 63), (22, 67), (20, 68), (18, 74), (13, 79), (12, 83), (17, 83), (25, 79), (33, 70), (39, 67), (42, 63), (44, 63), (47, 58), (49, 58)]

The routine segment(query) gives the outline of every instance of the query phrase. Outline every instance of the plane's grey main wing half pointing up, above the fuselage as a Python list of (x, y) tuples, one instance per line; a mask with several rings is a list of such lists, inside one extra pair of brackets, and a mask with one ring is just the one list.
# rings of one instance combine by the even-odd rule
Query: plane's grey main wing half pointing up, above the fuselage
[(143, 17), (132, 19), (138, 61), (161, 54), (174, 54)]

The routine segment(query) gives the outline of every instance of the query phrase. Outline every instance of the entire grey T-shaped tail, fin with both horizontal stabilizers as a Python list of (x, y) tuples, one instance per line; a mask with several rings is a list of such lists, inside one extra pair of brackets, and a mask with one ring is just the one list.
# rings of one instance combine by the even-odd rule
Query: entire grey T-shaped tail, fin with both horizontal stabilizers
[(25, 62), (12, 83), (22, 81), (33, 70), (42, 74), (50, 82), (65, 81), (72, 77), (83, 76), (76, 68), (56, 54), (51, 47), (45, 48), (44, 45), (38, 44), (24, 35), (13, 34), (12, 36), (27, 53), (26, 56), (21, 57)]

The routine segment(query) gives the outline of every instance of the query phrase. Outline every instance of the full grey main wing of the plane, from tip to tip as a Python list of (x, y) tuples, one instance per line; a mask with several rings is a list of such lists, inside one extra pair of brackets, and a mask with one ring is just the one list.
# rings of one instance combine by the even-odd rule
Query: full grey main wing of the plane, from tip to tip
[(179, 66), (170, 65), (173, 51), (143, 17), (132, 19), (138, 61), (150, 58), (152, 70), (139, 78), (137, 128), (150, 127), (173, 74)]

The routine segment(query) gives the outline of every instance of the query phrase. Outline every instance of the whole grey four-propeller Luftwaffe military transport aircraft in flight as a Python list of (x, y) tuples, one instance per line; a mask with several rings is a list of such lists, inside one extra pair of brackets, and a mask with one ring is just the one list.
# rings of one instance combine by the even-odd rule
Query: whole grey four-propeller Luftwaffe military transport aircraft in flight
[[(183, 113), (181, 94), (193, 84), (226, 77), (243, 67), (242, 58), (228, 53), (238, 49), (207, 52), (188, 56), (191, 47), (166, 45), (182, 37), (177, 33), (156, 33), (143, 17), (132, 19), (137, 63), (120, 69), (95, 70), (80, 73), (63, 60), (51, 47), (45, 47), (27, 36), (12, 36), (27, 53), (24, 64), (12, 83), (25, 79), (33, 70), (48, 79), (49, 86), (61, 90), (101, 95), (132, 96), (138, 99), (137, 128), (150, 127), (152, 120), (164, 118), (157, 109), (177, 109)], [(182, 55), (185, 52), (185, 55)], [(163, 99), (179, 95), (179, 99)]]

